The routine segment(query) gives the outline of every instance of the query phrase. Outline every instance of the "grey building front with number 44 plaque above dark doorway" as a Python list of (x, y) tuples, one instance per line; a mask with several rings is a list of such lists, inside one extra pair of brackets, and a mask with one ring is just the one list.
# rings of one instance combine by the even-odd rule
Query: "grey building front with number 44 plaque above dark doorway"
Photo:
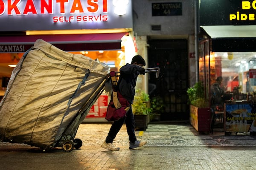
[(148, 94), (163, 99), (161, 121), (188, 120), (187, 88), (195, 82), (195, 0), (133, 1), (138, 51), (160, 76), (148, 77)]

